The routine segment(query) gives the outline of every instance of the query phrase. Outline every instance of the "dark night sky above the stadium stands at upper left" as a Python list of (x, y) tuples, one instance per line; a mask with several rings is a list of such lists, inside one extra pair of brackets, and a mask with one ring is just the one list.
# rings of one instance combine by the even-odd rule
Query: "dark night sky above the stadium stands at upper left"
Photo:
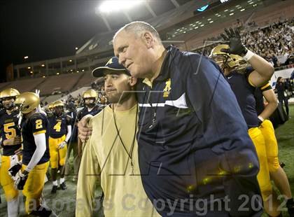
[(94, 8), (102, 1), (0, 1), (1, 80), (8, 64), (73, 55), (98, 32), (107, 31)]

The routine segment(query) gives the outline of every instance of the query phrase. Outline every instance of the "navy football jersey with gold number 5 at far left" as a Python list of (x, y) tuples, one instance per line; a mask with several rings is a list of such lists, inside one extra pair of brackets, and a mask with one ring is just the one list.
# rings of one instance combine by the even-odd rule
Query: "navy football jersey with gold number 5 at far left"
[[(16, 136), (21, 136), (20, 129), (18, 127), (18, 112), (13, 111), (10, 115), (6, 112), (2, 112), (0, 116), (1, 138), (2, 144), (6, 139), (11, 139)], [(15, 146), (3, 146), (3, 155), (10, 156), (15, 155), (15, 151), (21, 148), (20, 145)]]

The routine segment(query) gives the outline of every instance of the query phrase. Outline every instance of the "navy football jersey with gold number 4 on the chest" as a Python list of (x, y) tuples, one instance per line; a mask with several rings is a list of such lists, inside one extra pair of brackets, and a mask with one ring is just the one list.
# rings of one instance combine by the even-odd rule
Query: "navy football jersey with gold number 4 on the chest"
[(52, 138), (60, 138), (66, 134), (67, 125), (71, 125), (72, 119), (70, 116), (66, 114), (62, 114), (61, 116), (48, 116), (48, 120), (50, 123), (50, 133), (49, 136)]

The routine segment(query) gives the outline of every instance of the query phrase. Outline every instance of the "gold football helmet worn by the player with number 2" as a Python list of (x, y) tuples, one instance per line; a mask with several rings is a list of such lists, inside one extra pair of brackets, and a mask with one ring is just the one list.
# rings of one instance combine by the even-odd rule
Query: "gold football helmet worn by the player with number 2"
[(15, 104), (19, 105), (21, 113), (27, 114), (38, 107), (40, 98), (34, 92), (23, 92), (15, 99)]

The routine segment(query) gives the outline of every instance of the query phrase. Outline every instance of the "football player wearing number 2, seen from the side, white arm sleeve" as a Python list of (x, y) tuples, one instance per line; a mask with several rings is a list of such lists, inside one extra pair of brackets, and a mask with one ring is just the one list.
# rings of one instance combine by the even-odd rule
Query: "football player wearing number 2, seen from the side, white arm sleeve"
[[(41, 204), (45, 173), (49, 165), (48, 119), (36, 112), (40, 98), (34, 92), (24, 92), (15, 100), (22, 119), (22, 169), (15, 175), (15, 188), (23, 190), (25, 210), (35, 216), (50, 216)], [(10, 170), (12, 172), (13, 169)]]

